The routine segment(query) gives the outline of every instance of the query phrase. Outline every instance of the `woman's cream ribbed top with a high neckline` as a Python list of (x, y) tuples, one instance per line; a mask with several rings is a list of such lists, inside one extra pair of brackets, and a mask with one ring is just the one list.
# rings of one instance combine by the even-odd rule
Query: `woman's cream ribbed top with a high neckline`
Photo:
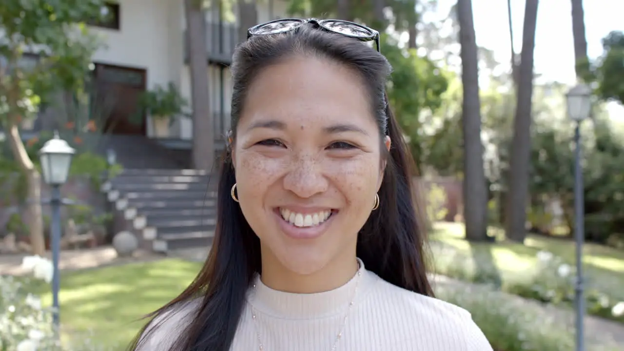
[[(263, 351), (331, 351), (343, 325), (336, 351), (492, 350), (466, 310), (389, 284), (362, 262), (360, 271), (342, 287), (318, 294), (280, 292), (256, 277), (230, 351), (259, 350), (258, 334)], [(193, 305), (165, 320), (141, 350), (168, 350)]]

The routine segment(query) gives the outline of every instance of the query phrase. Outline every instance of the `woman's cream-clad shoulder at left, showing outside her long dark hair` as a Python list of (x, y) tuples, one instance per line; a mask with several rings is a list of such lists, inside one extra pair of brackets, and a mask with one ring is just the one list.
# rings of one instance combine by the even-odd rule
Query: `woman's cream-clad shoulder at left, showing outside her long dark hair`
[(199, 299), (180, 302), (152, 319), (135, 351), (167, 351), (193, 319)]

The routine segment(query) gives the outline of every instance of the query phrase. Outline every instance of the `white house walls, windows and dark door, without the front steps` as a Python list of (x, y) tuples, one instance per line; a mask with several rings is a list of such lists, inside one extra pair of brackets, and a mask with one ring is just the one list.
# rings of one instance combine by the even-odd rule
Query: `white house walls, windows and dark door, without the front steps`
[[(208, 84), (210, 107), (214, 121), (213, 136), (222, 144), (230, 128), (230, 73), (228, 66), (238, 43), (239, 18), (233, 2), (233, 21), (225, 14), (222, 0), (210, 0), (205, 11)], [(257, 22), (285, 17), (285, 0), (258, 1)], [(142, 92), (170, 82), (178, 87), (182, 97), (191, 102), (188, 46), (185, 33), (183, 1), (119, 0), (106, 2), (109, 19), (91, 24), (100, 34), (104, 45), (95, 52), (90, 67), (94, 81), (100, 87), (99, 99), (107, 101), (109, 116), (103, 121), (107, 132), (134, 138), (152, 139), (168, 149), (188, 150), (192, 139), (192, 120), (177, 116), (165, 135), (157, 135), (152, 116), (131, 116)], [(30, 57), (25, 56), (24, 59)], [(105, 92), (102, 92), (105, 91)], [(56, 127), (42, 111), (35, 121), (22, 125), (25, 139), (33, 134)], [(130, 121), (132, 118), (134, 120)], [(218, 149), (219, 147), (217, 147)], [(129, 165), (130, 166), (130, 165)]]

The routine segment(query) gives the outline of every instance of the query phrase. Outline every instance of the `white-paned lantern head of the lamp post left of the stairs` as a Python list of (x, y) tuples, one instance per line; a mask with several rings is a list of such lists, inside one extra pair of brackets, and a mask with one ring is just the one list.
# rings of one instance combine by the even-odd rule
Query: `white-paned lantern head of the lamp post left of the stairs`
[(44, 144), (39, 151), (43, 179), (49, 185), (62, 185), (67, 182), (74, 150), (66, 141), (54, 132), (54, 137)]

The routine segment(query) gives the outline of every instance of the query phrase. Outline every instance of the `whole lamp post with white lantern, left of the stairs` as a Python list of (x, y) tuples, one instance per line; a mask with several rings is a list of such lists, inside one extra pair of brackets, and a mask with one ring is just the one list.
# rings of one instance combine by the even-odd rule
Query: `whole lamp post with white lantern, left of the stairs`
[(59, 137), (58, 132), (54, 133), (54, 138), (44, 144), (39, 151), (41, 160), (41, 171), (46, 184), (52, 188), (50, 205), (52, 207), (51, 219), (51, 242), (52, 242), (52, 265), (54, 266), (54, 276), (52, 277), (52, 322), (58, 330), (59, 327), (59, 255), (61, 252), (61, 186), (67, 182), (69, 167), (72, 157), (76, 152), (66, 141)]

